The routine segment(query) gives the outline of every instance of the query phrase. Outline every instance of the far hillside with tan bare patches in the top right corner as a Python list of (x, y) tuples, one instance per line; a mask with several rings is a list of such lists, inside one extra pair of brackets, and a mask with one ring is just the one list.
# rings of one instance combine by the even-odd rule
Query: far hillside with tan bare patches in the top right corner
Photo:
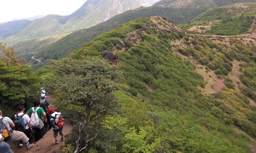
[(251, 33), (256, 4), (244, 3), (209, 9), (182, 27), (211, 35), (239, 35)]

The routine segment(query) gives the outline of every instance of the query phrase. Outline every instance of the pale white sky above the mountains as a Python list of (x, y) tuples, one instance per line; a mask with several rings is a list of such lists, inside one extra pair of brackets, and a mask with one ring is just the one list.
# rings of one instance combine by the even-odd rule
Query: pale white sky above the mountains
[(1, 0), (0, 23), (36, 15), (69, 15), (86, 0)]

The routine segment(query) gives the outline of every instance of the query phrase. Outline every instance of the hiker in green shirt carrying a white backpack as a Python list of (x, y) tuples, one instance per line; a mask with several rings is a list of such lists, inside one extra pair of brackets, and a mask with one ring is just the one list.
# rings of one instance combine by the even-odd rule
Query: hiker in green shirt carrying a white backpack
[[(33, 129), (35, 130), (35, 141), (38, 141), (39, 139), (42, 138), (42, 136), (45, 135), (44, 121), (46, 119), (46, 113), (44, 109), (40, 107), (40, 101), (35, 100), (34, 107), (30, 108), (26, 114), (30, 115), (30, 123)], [(37, 124), (35, 124), (34, 121), (36, 121)]]

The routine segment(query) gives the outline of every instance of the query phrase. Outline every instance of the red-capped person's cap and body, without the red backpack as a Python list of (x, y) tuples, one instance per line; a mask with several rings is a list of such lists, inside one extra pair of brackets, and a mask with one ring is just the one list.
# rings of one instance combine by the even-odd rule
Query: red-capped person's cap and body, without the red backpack
[(55, 112), (53, 108), (49, 108), (47, 110), (47, 112), (49, 114), (51, 114), (51, 119), (50, 119), (50, 122), (52, 124), (52, 127), (53, 127), (53, 137), (55, 138), (55, 144), (58, 143), (58, 140), (57, 140), (57, 137), (58, 137), (58, 133), (59, 135), (61, 136), (61, 141), (64, 141), (64, 134), (63, 134), (63, 126), (61, 127), (58, 127), (56, 124), (55, 124), (55, 116), (56, 115), (60, 115), (60, 113), (58, 112)]

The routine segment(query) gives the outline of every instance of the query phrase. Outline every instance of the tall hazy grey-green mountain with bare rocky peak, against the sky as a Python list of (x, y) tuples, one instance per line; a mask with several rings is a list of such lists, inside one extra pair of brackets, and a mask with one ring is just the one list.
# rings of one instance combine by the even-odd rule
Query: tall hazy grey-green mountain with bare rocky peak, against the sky
[(47, 15), (39, 18), (22, 32), (5, 39), (4, 42), (13, 45), (21, 41), (70, 33), (91, 27), (117, 14), (140, 6), (148, 7), (150, 5), (144, 0), (88, 0), (71, 15)]

